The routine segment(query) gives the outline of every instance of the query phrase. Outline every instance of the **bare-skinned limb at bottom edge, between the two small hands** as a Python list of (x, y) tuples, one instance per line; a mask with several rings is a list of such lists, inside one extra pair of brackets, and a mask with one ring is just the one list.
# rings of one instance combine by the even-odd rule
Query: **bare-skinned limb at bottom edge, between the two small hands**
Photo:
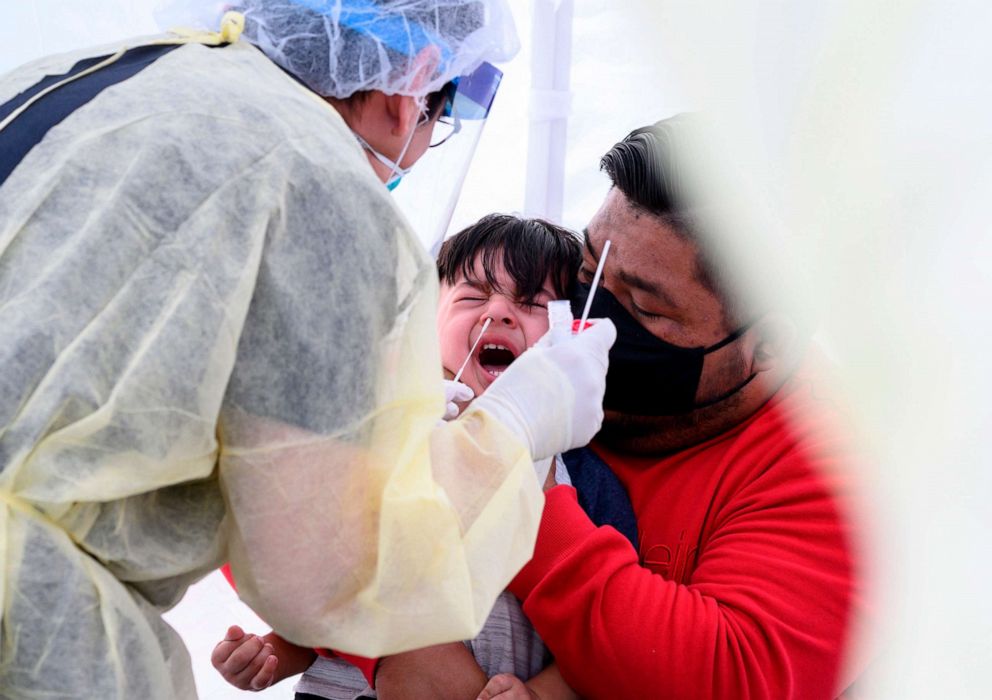
[(375, 674), (380, 700), (468, 700), (485, 685), (486, 674), (461, 642), (387, 656)]

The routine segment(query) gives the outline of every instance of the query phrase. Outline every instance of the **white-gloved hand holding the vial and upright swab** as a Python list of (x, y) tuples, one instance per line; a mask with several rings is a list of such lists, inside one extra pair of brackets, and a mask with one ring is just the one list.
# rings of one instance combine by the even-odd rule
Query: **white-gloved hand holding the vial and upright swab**
[(472, 403), (512, 430), (535, 461), (592, 440), (603, 424), (603, 393), (610, 346), (609, 319), (562, 342), (538, 342)]

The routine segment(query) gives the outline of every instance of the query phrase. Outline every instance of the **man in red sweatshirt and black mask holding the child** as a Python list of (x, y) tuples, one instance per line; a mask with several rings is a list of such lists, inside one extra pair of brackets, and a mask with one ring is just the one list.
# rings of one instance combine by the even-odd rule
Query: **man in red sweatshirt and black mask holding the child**
[(638, 546), (549, 484), (511, 590), (583, 697), (832, 698), (863, 605), (854, 454), (794, 317), (745, 302), (708, 248), (694, 131), (674, 117), (604, 156), (574, 300), (611, 241), (590, 314), (618, 331), (606, 422), (566, 463), (613, 469)]

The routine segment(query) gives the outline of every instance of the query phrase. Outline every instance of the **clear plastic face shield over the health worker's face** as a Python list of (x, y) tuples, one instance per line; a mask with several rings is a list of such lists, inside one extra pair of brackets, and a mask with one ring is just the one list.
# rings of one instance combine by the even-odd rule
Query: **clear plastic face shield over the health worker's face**
[(431, 147), (393, 192), (413, 230), (435, 257), (502, 77), (498, 68), (482, 63), (445, 86), (446, 99), (434, 124)]

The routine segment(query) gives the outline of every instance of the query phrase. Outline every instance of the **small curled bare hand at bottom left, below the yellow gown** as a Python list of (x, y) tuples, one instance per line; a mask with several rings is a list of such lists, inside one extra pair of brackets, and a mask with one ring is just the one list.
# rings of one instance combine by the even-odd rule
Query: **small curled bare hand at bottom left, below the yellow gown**
[(245, 634), (240, 627), (232, 625), (214, 647), (210, 662), (234, 687), (262, 690), (303, 673), (316, 657), (313, 649), (298, 647), (275, 632), (259, 637)]

